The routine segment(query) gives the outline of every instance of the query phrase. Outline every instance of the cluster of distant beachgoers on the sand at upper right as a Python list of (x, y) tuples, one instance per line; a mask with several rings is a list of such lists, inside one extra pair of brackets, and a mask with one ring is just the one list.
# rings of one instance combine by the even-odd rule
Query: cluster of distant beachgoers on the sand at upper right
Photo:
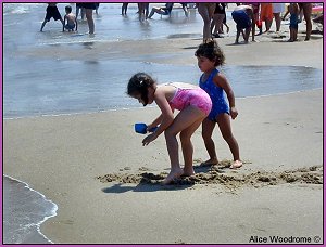
[[(280, 31), (281, 21), (290, 14), (290, 38), (288, 41), (298, 41), (298, 24), (302, 22), (303, 17), (306, 25), (305, 40), (310, 40), (312, 32), (312, 21), (323, 25), (324, 12), (323, 4), (319, 3), (236, 3), (237, 6), (233, 10), (231, 16), (236, 23), (237, 36), (236, 43), (239, 43), (239, 37), (242, 35), (244, 43), (249, 42), (251, 34), (252, 41), (255, 37), (255, 29), (263, 32), (263, 24), (265, 26), (264, 32), (271, 31), (273, 20), (276, 23), (276, 32)], [(210, 42), (213, 38), (221, 38), (224, 34), (223, 26), (226, 26), (226, 12), (227, 3), (197, 3), (198, 12), (202, 16), (203, 25), (203, 42)], [(318, 15), (312, 20), (313, 13)]]

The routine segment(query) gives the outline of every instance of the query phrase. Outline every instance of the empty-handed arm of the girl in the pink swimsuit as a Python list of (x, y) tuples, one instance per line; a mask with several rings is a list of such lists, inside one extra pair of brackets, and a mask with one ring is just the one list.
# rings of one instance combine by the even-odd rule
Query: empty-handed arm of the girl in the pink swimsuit
[(162, 132), (164, 132), (165, 129), (168, 128), (168, 126), (171, 126), (174, 120), (173, 110), (166, 100), (165, 92), (163, 90), (156, 90), (154, 100), (162, 110), (162, 114), (159, 117), (161, 118), (161, 125), (153, 133), (149, 134), (142, 140), (142, 145), (148, 145), (150, 142), (154, 141)]

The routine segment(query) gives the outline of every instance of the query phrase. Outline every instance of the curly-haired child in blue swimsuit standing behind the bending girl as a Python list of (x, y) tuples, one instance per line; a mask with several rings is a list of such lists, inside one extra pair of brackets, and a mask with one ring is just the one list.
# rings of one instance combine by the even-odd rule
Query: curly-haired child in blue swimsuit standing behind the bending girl
[[(195, 55), (198, 58), (198, 67), (203, 72), (199, 86), (210, 94), (213, 103), (210, 115), (202, 122), (202, 138), (210, 155), (210, 159), (202, 165), (218, 164), (215, 144), (212, 139), (212, 133), (217, 122), (221, 133), (234, 156), (234, 162), (230, 168), (239, 168), (242, 166), (242, 161), (239, 155), (238, 142), (233, 135), (230, 126), (230, 117), (235, 119), (238, 115), (235, 95), (226, 77), (216, 69), (217, 66), (224, 64), (224, 53), (216, 41), (212, 41), (200, 44)], [(228, 104), (224, 98), (224, 92), (227, 95)]]

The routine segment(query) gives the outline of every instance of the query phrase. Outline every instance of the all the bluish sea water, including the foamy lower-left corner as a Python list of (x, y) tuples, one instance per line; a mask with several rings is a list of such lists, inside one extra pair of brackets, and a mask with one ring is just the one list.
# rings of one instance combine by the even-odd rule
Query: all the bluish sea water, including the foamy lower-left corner
[[(58, 4), (61, 13), (64, 13), (66, 4)], [(156, 64), (147, 62), (142, 56), (85, 62), (22, 55), (38, 47), (73, 44), (78, 49), (78, 46), (108, 40), (118, 42), (176, 37), (200, 40), (203, 22), (195, 10), (190, 11), (188, 18), (181, 9), (176, 9), (171, 18), (155, 15), (152, 21), (141, 24), (136, 14), (136, 3), (129, 4), (127, 16), (121, 15), (121, 3), (101, 3), (99, 16), (95, 15), (96, 35), (89, 37), (86, 35), (86, 23), (80, 23), (79, 35), (72, 36), (63, 34), (60, 22), (53, 20), (40, 32), (46, 8), (45, 3), (3, 4), (4, 118), (139, 107), (137, 101), (126, 95), (126, 83), (122, 82), (129, 79), (130, 70), (147, 72), (159, 81), (198, 83), (201, 73), (196, 64)], [(229, 12), (227, 20), (233, 22)], [(229, 35), (233, 36), (234, 30)], [(62, 79), (67, 66), (68, 82)], [(289, 93), (322, 88), (323, 83), (322, 70), (310, 67), (225, 66), (222, 70), (238, 98)], [(27, 184), (8, 177), (3, 177), (3, 195), (4, 243), (50, 243), (39, 232), (39, 225), (55, 216), (57, 205)]]

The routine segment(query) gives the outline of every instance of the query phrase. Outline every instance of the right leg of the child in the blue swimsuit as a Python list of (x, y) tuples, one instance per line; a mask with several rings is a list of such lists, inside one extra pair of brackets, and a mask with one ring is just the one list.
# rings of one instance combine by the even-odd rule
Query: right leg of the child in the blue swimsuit
[(227, 142), (230, 152), (234, 156), (234, 164), (230, 168), (239, 168), (242, 166), (242, 161), (240, 159), (239, 154), (239, 145), (237, 140), (235, 139), (233, 132), (231, 132), (231, 126), (230, 126), (230, 117), (228, 114), (221, 114), (217, 116), (217, 123), (221, 130), (221, 133), (223, 135), (223, 139)]

